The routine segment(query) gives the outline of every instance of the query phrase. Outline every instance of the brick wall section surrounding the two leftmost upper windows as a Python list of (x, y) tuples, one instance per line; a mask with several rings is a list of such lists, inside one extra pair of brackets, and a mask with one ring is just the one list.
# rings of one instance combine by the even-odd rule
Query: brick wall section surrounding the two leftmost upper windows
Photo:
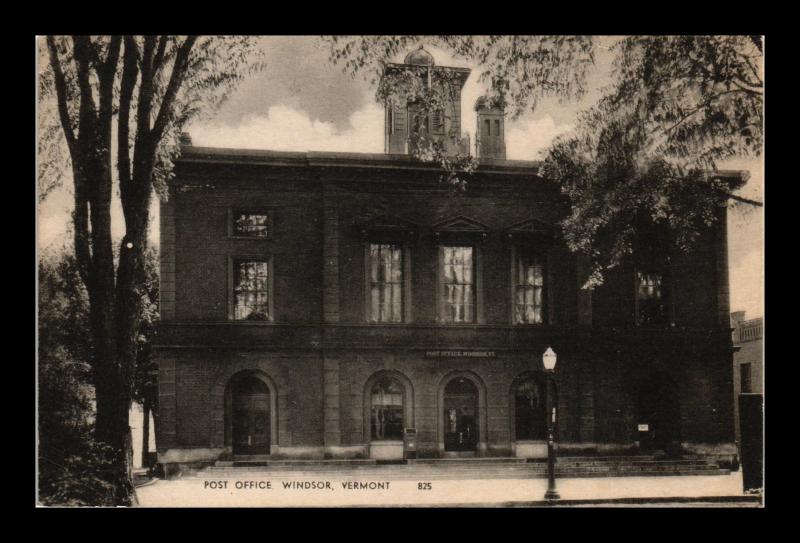
[[(175, 318), (228, 320), (228, 259), (258, 255), (273, 257), (275, 322), (319, 322), (323, 214), (318, 192), (252, 174), (231, 175), (209, 172), (194, 185), (210, 187), (176, 191)], [(230, 238), (229, 213), (236, 207), (270, 212), (270, 238)]]

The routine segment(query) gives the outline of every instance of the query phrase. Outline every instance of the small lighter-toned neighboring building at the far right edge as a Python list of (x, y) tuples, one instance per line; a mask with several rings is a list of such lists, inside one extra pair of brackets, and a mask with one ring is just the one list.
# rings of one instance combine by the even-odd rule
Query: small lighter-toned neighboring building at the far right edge
[(764, 318), (745, 320), (744, 311), (731, 313), (733, 328), (733, 394), (736, 441), (740, 441), (739, 394), (764, 393)]

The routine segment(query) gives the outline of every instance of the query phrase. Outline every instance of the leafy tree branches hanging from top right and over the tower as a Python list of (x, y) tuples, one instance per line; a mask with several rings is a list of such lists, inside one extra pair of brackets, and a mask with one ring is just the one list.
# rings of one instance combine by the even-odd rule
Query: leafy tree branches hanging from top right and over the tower
[[(512, 118), (535, 110), (546, 96), (582, 97), (598, 47), (589, 36), (326, 41), (331, 61), (371, 77), (382, 102), (391, 94), (378, 84), (385, 62), (427, 41), (476, 64), (486, 98), (504, 103)], [(630, 36), (616, 40), (611, 54), (612, 84), (581, 115), (575, 132), (553, 143), (540, 172), (569, 197), (572, 210), (561, 226), (568, 245), (591, 257), (589, 284), (601, 281), (602, 271), (631, 255), (643, 239), (666, 237), (669, 246), (687, 249), (730, 199), (760, 205), (734, 193), (744, 179), (714, 172), (720, 161), (761, 153), (761, 38)], [(424, 92), (413, 98), (434, 105)], [(454, 178), (463, 183), (459, 175), (448, 175)]]

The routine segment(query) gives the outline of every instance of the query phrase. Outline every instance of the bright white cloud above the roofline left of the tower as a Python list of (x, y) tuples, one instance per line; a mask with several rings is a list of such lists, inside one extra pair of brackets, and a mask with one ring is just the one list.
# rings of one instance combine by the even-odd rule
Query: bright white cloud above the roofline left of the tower
[(248, 115), (236, 125), (195, 125), (192, 143), (203, 147), (271, 149), (276, 151), (383, 152), (383, 110), (366, 104), (350, 115), (347, 129), (311, 119), (287, 105), (269, 108), (267, 115)]

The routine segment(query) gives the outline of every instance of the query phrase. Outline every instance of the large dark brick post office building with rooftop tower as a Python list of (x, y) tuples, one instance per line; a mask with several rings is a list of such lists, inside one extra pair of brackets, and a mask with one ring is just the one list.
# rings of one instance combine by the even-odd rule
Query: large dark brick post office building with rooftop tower
[[(469, 73), (424, 50), (387, 73), (404, 66)], [(543, 457), (547, 347), (562, 451), (733, 458), (725, 210), (694, 252), (582, 290), (567, 202), (504, 159), (496, 106), (477, 104), (466, 192), (406, 154), (425, 126), (468, 149), (460, 101), (387, 108), (387, 154), (183, 146), (161, 204), (159, 462), (401, 458), (409, 427), (420, 456)]]

